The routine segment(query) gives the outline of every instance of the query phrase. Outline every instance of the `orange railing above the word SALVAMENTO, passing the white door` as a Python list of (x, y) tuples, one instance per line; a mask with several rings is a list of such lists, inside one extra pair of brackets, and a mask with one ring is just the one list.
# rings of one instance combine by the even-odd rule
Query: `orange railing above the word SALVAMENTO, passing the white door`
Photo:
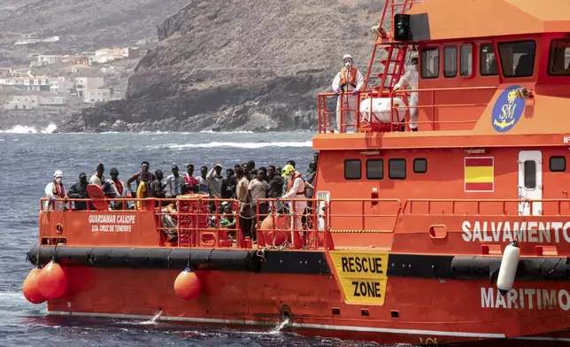
[(409, 199), (404, 215), (570, 216), (570, 199)]

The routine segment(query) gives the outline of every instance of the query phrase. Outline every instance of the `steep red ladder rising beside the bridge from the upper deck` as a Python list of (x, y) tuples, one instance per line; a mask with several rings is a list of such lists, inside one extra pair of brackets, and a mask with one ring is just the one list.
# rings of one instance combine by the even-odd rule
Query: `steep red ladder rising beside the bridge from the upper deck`
[[(381, 14), (380, 24), (374, 30), (378, 37), (374, 42), (374, 50), (368, 65), (366, 73), (365, 89), (369, 88), (370, 77), (379, 79), (378, 84), (370, 86), (370, 89), (378, 92), (380, 95), (386, 95), (389, 90), (393, 89), (397, 81), (404, 74), (405, 57), (408, 53), (407, 42), (397, 42), (394, 40), (392, 28), (394, 27), (394, 14), (404, 13), (412, 8), (413, 4), (423, 1), (420, 0), (386, 0), (384, 10)], [(389, 9), (389, 11), (388, 11)], [(389, 12), (389, 13), (388, 13)], [(389, 14), (389, 30), (383, 28), (384, 21)], [(376, 60), (376, 55), (380, 56)], [(377, 66), (380, 65), (380, 71), (375, 72)], [(374, 71), (374, 73), (372, 73)]]

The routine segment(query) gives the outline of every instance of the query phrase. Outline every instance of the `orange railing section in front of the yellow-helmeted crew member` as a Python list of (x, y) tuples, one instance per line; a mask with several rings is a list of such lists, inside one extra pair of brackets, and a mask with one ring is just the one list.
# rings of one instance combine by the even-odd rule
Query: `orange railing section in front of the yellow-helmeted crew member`
[(262, 198), (256, 204), (258, 248), (332, 250), (327, 201), (315, 198)]

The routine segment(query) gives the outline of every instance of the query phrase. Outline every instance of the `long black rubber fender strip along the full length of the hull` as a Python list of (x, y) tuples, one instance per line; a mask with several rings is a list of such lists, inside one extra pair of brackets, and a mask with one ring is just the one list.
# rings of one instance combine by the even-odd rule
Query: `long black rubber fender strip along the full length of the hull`
[[(40, 264), (54, 258), (54, 246), (38, 246), (27, 259)], [(246, 251), (180, 248), (126, 248), (59, 246), (55, 259), (64, 266), (124, 267), (135, 269), (199, 269), (248, 271), (260, 274), (320, 274), (331, 271), (322, 251)], [(389, 277), (494, 281), (501, 258), (389, 254)], [(518, 281), (570, 281), (570, 258), (521, 258)]]

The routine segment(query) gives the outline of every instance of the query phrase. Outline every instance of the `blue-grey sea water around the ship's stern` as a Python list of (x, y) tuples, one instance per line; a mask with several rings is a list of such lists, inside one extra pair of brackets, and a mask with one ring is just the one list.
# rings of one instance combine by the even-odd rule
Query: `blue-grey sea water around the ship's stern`
[[(24, 133), (24, 134), (22, 134)], [(170, 174), (173, 163), (224, 168), (256, 161), (284, 166), (289, 159), (306, 173), (312, 159), (312, 133), (49, 134), (27, 127), (0, 132), (0, 341), (2, 346), (368, 346), (374, 343), (304, 337), (268, 328), (264, 331), (196, 328), (165, 322), (47, 317), (44, 305), (21, 294), (31, 269), (26, 252), (37, 243), (39, 199), (57, 169), (65, 187), (79, 173), (93, 174), (103, 163), (127, 180), (143, 160), (150, 170)]]

